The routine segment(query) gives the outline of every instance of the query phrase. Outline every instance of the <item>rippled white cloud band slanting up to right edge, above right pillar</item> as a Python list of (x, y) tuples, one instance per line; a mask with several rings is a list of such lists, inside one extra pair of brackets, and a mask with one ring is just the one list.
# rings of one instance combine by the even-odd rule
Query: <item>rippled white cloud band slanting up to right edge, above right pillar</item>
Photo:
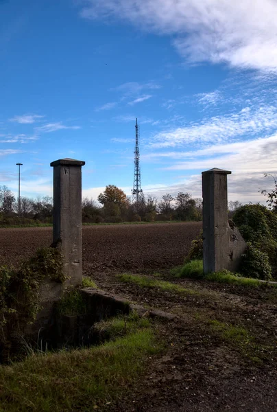
[(219, 143), (246, 133), (254, 135), (261, 130), (268, 133), (276, 127), (277, 109), (274, 106), (263, 106), (256, 111), (245, 107), (239, 113), (211, 117), (200, 123), (160, 132), (153, 137), (150, 146), (167, 148), (191, 143)]

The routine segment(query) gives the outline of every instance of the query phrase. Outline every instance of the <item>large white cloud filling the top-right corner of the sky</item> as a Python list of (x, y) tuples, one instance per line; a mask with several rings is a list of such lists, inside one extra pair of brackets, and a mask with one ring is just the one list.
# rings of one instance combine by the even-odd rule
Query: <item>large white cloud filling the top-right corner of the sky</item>
[(188, 62), (227, 62), (233, 67), (277, 71), (275, 0), (86, 0), (86, 19), (115, 16), (173, 44)]

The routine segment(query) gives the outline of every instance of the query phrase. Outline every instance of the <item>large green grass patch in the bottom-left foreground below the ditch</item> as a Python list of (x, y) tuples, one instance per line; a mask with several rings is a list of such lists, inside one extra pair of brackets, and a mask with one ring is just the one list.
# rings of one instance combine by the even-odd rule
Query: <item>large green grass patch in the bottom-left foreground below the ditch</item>
[(163, 349), (151, 328), (99, 347), (35, 355), (0, 367), (0, 410), (5, 412), (103, 411), (123, 396)]

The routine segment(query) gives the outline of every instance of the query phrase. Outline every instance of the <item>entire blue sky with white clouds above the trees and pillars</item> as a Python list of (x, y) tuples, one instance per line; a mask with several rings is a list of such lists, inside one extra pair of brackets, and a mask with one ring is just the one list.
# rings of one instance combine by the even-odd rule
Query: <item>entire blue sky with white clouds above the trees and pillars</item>
[[(197, 4), (199, 3), (199, 4)], [(243, 3), (243, 4), (241, 4)], [(277, 170), (274, 0), (0, 0), (0, 185), (52, 194), (51, 161), (86, 161), (83, 196), (130, 194), (134, 122), (145, 193), (264, 201)]]

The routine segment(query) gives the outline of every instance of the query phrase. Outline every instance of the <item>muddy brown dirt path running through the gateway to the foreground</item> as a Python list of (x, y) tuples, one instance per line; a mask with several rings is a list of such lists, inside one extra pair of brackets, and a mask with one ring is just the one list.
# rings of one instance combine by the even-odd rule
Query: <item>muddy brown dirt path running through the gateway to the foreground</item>
[(195, 294), (123, 283), (95, 273), (98, 286), (178, 315), (159, 326), (165, 353), (112, 411), (277, 411), (277, 291), (175, 279)]

